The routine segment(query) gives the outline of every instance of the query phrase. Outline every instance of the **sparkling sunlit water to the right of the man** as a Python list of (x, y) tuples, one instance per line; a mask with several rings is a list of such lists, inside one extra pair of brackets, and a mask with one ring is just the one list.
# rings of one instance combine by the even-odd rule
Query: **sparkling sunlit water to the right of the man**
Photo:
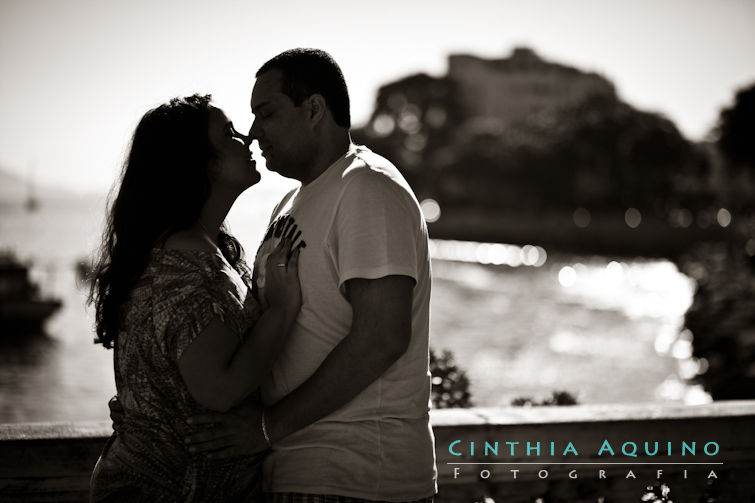
[(679, 378), (693, 284), (667, 261), (551, 256), (540, 268), (435, 262), (433, 272), (433, 345), (467, 369), (476, 405), (554, 390), (580, 403), (708, 401)]

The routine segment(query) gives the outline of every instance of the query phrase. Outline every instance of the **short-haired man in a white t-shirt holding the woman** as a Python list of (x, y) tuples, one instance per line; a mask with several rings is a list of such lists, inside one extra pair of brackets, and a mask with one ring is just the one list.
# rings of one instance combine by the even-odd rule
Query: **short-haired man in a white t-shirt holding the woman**
[[(273, 501), (431, 500), (430, 262), (417, 200), (390, 162), (351, 143), (348, 91), (327, 53), (295, 49), (265, 63), (251, 107), (249, 141), (269, 170), (301, 182), (275, 208), (255, 265), (288, 217), (307, 248), (302, 310), (262, 387), (259, 423), (243, 426), (245, 452), (272, 446)], [(264, 268), (255, 271), (264, 290)], [(239, 436), (238, 421), (210, 419), (225, 426), (205, 448), (234, 424)]]

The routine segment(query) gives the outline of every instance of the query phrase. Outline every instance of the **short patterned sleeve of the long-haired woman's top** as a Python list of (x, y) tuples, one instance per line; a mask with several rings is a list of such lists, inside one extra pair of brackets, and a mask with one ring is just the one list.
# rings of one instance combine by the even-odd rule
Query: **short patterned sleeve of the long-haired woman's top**
[(186, 348), (213, 319), (225, 322), (226, 307), (221, 300), (217, 293), (200, 285), (186, 292), (184, 298), (176, 302), (166, 327), (170, 358), (180, 360)]

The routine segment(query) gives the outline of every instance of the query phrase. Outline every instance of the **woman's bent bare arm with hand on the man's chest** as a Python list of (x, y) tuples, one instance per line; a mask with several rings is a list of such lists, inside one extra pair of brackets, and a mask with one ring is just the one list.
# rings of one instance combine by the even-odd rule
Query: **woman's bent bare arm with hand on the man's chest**
[(181, 377), (201, 405), (225, 412), (259, 387), (270, 372), (301, 306), (299, 248), (293, 253), (290, 249), (290, 240), (282, 240), (268, 257), (265, 292), (269, 307), (243, 343), (215, 318), (181, 354)]

